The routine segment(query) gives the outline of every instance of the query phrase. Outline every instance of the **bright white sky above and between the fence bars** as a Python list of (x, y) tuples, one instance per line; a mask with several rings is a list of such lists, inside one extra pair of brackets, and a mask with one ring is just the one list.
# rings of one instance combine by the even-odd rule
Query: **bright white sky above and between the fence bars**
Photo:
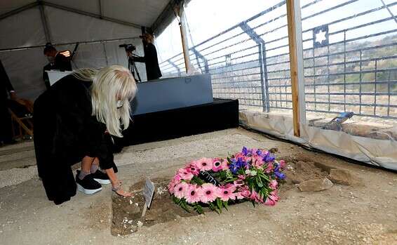
[[(261, 11), (266, 10), (267, 8), (274, 6), (281, 0), (191, 0), (190, 3), (185, 7), (185, 15), (188, 23), (188, 37), (189, 37), (189, 45), (191, 46), (201, 43), (210, 37), (232, 27), (238, 22), (246, 20), (251, 16), (260, 13)], [(302, 0), (301, 6), (308, 4), (314, 0)], [(307, 17), (313, 13), (318, 13), (325, 9), (331, 8), (332, 6), (336, 6), (338, 4), (342, 4), (348, 0), (323, 0), (304, 8), (302, 10), (302, 18)], [(385, 4), (391, 4), (396, 2), (396, 0), (384, 0)], [(309, 18), (307, 20), (302, 21), (302, 29), (311, 29), (313, 27), (317, 27), (319, 25), (323, 25), (328, 22), (332, 22), (333, 20), (339, 20), (345, 18), (349, 15), (354, 15), (357, 13), (361, 13), (363, 11), (367, 11), (371, 8), (377, 8), (382, 6), (381, 0), (358, 0), (354, 3), (348, 4), (342, 8), (338, 8), (335, 11), (329, 11), (328, 13), (323, 13), (314, 18)], [(397, 15), (397, 5), (391, 8), (391, 11), (394, 15)], [(286, 13), (285, 5), (281, 8), (277, 8), (266, 15), (263, 15), (257, 20), (249, 22), (248, 25), (251, 27), (255, 27), (267, 20), (271, 20), (281, 14)], [(361, 25), (365, 22), (372, 22), (375, 20), (379, 20), (382, 18), (390, 17), (391, 15), (385, 9), (382, 11), (377, 11), (376, 13), (371, 13), (368, 15), (364, 15), (361, 17), (357, 17), (351, 20), (346, 20), (344, 22), (340, 22), (339, 24), (330, 25), (330, 32), (335, 32), (340, 29), (346, 29), (349, 27), (353, 27), (356, 25)], [(257, 29), (258, 33), (266, 32), (269, 29), (274, 29), (274, 27), (278, 27), (280, 25), (285, 25), (286, 18), (281, 20), (272, 22), (271, 24), (267, 24), (264, 27)], [(377, 25), (371, 25), (368, 27), (363, 27), (360, 29), (351, 30), (346, 32), (346, 39), (351, 39), (354, 37), (364, 36), (366, 34), (377, 33), (382, 31), (387, 31), (391, 29), (397, 29), (397, 23), (393, 20), (382, 22)], [(235, 33), (241, 32), (240, 28), (236, 28), (234, 30)], [(230, 34), (234, 33), (230, 32)], [(270, 34), (264, 35), (264, 39), (266, 40), (274, 40), (278, 37), (285, 37), (287, 34), (287, 29), (283, 28), (276, 32), (272, 32)], [(396, 34), (396, 33), (393, 33)], [(311, 32), (305, 32), (302, 36), (303, 39), (310, 38), (312, 35)], [(225, 36), (226, 37), (226, 36)], [(248, 38), (248, 36), (245, 36)], [(221, 39), (217, 39), (220, 41)], [(343, 40), (342, 34), (335, 34), (330, 36), (330, 42)], [(273, 46), (279, 46), (281, 42), (288, 44), (288, 40), (281, 40), (280, 42), (274, 42), (269, 44), (267, 48), (271, 48)], [(208, 43), (209, 45), (210, 43)], [(248, 42), (247, 45), (252, 45), (253, 42)], [(156, 46), (159, 50), (159, 60), (160, 62), (163, 60), (167, 60), (168, 58), (182, 53), (182, 44), (180, 39), (180, 29), (177, 25), (177, 21), (175, 20), (173, 24), (171, 24), (159, 37), (156, 39)], [(304, 48), (311, 46), (311, 42), (307, 42), (304, 44)], [(243, 46), (240, 46), (242, 48)], [(288, 51), (288, 49), (286, 50)], [(285, 52), (284, 49), (279, 49), (274, 51), (274, 53)]]

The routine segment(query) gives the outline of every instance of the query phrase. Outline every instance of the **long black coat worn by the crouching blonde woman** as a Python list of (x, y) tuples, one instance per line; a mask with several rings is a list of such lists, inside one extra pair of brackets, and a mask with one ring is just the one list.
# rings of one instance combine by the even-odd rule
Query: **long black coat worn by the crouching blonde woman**
[(55, 204), (76, 194), (71, 166), (98, 157), (102, 169), (114, 168), (111, 136), (91, 116), (90, 81), (68, 75), (34, 102), (34, 149), (37, 170), (48, 199)]

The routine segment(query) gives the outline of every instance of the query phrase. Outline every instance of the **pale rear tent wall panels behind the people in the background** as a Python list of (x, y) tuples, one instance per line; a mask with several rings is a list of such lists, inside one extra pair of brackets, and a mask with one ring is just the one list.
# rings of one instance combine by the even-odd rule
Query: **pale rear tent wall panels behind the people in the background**
[[(44, 6), (51, 43), (58, 51), (73, 51), (74, 43), (79, 45), (74, 57), (73, 69), (83, 67), (100, 68), (106, 65), (127, 66), (126, 53), (119, 44), (133, 44), (137, 55), (143, 55), (141, 30), (107, 20), (100, 20), (58, 8)], [(0, 20), (0, 49), (26, 48), (0, 51), (0, 59), (20, 98), (35, 100), (45, 91), (42, 79), (43, 66), (48, 63), (43, 55), (46, 37), (41, 22), (39, 7), (30, 8)], [(130, 38), (130, 39), (128, 39)], [(116, 41), (121, 39), (120, 41)], [(114, 41), (104, 41), (114, 40)], [(85, 43), (88, 42), (88, 43)], [(68, 44), (68, 45), (58, 45)], [(144, 64), (137, 63), (142, 81), (146, 81)]]

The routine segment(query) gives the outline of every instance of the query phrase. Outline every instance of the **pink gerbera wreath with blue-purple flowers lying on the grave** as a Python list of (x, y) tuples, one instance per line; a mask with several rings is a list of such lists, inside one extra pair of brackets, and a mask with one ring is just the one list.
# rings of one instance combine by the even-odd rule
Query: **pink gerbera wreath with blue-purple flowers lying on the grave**
[(229, 204), (251, 201), (273, 206), (278, 201), (278, 183), (285, 179), (285, 161), (267, 150), (247, 149), (228, 157), (202, 158), (180, 168), (168, 185), (176, 204), (203, 213), (208, 206), (217, 213)]

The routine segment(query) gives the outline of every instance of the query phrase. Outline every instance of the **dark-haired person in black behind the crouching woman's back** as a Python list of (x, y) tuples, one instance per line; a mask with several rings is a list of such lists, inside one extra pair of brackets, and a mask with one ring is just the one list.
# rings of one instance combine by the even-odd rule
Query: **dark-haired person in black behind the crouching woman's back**
[(43, 80), (44, 84), (46, 84), (46, 88), (48, 89), (51, 87), (51, 85), (46, 71), (51, 69), (58, 69), (61, 72), (71, 71), (72, 64), (69, 58), (67, 58), (65, 55), (62, 55), (62, 53), (59, 53), (54, 46), (51, 46), (51, 44), (46, 44), (46, 48), (44, 48), (43, 53), (49, 62), (43, 68)]

